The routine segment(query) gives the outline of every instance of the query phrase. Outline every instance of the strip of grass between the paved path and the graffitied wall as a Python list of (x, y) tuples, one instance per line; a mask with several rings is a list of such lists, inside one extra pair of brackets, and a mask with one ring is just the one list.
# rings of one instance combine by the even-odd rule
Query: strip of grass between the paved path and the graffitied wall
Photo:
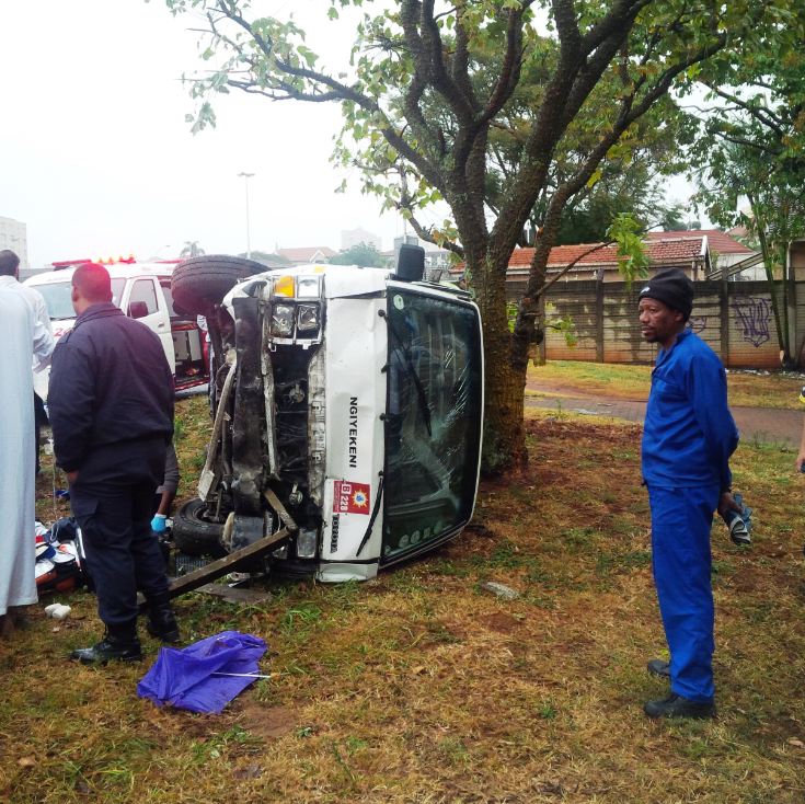
[[(531, 395), (610, 397), (644, 401), (652, 384), (651, 366), (549, 360), (528, 367), (526, 393)], [(727, 372), (731, 405), (801, 410), (801, 375), (755, 374), (734, 369)]]

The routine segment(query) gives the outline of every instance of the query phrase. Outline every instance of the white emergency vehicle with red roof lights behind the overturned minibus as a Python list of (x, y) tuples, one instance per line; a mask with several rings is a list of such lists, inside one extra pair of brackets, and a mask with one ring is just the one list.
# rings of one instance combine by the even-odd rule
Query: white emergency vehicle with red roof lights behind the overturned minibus
[[(171, 294), (174, 262), (124, 262), (104, 265), (112, 278), (112, 301), (127, 315), (153, 330), (162, 342), (168, 363), (173, 367), (176, 390), (205, 384), (209, 379), (205, 333), (196, 317), (176, 310)], [(25, 280), (45, 299), (54, 338), (69, 332), (76, 323), (71, 279), (78, 264), (37, 274)], [(47, 399), (49, 371), (34, 374), (34, 390)]]

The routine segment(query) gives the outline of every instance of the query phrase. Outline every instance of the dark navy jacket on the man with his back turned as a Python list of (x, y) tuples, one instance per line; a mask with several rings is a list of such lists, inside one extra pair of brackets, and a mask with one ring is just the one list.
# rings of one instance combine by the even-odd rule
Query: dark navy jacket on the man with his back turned
[(53, 355), (47, 401), (56, 462), (70, 472), (99, 447), (168, 443), (173, 400), (159, 337), (111, 302), (92, 305)]

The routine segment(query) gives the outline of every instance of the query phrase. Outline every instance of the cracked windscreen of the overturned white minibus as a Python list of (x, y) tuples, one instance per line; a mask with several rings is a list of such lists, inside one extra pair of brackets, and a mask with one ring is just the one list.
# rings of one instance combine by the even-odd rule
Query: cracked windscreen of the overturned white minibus
[(473, 308), (395, 288), (388, 324), (384, 562), (469, 521), (482, 411)]

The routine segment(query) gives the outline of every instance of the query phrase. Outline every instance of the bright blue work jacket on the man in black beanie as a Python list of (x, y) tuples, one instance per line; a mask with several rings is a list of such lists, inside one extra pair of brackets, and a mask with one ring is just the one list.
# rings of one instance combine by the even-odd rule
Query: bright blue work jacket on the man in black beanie
[(648, 485), (729, 489), (729, 456), (738, 430), (727, 407), (721, 360), (686, 330), (660, 349), (652, 372), (643, 429), (643, 480)]

